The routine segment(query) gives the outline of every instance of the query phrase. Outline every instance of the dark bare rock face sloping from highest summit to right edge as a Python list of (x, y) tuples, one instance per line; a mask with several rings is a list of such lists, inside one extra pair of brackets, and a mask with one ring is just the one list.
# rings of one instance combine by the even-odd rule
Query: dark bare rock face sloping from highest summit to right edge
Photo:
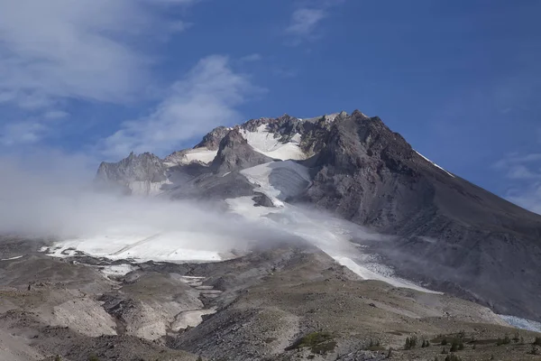
[(325, 143), (299, 201), (397, 235), (373, 248), (409, 278), (541, 319), (541, 217), (427, 161), (378, 117), (337, 119)]

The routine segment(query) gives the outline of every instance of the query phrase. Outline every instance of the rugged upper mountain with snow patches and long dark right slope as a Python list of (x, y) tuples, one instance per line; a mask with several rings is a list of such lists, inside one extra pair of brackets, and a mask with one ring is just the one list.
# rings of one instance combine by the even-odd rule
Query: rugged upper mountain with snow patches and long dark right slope
[(356, 241), (406, 278), (541, 319), (541, 217), (430, 162), (377, 116), (252, 119), (164, 160), (104, 162), (96, 180), (134, 194), (331, 211), (392, 235)]

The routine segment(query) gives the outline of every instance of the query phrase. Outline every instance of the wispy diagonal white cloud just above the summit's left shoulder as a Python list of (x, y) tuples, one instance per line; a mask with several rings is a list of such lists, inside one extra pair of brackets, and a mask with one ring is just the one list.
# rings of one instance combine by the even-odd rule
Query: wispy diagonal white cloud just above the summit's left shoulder
[(113, 158), (132, 151), (170, 153), (215, 126), (241, 121), (237, 106), (261, 90), (246, 75), (234, 72), (227, 57), (209, 56), (170, 87), (150, 116), (124, 122), (100, 143), (100, 151)]

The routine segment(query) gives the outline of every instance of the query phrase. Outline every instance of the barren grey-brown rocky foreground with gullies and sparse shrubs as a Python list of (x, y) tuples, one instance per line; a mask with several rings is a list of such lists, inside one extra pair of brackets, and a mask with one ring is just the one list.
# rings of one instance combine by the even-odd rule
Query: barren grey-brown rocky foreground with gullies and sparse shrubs
[(3, 241), (4, 255), (27, 253), (0, 261), (2, 360), (540, 357), (541, 335), (487, 308), (362, 281), (308, 245), (206, 264), (57, 259), (32, 245)]

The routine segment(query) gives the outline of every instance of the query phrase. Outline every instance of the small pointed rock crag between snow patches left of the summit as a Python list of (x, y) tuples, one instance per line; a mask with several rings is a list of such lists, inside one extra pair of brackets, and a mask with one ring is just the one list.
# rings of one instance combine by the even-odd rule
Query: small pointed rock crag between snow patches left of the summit
[(272, 162), (272, 159), (253, 150), (243, 134), (235, 128), (220, 142), (218, 154), (211, 164), (216, 173), (241, 170), (258, 164)]

